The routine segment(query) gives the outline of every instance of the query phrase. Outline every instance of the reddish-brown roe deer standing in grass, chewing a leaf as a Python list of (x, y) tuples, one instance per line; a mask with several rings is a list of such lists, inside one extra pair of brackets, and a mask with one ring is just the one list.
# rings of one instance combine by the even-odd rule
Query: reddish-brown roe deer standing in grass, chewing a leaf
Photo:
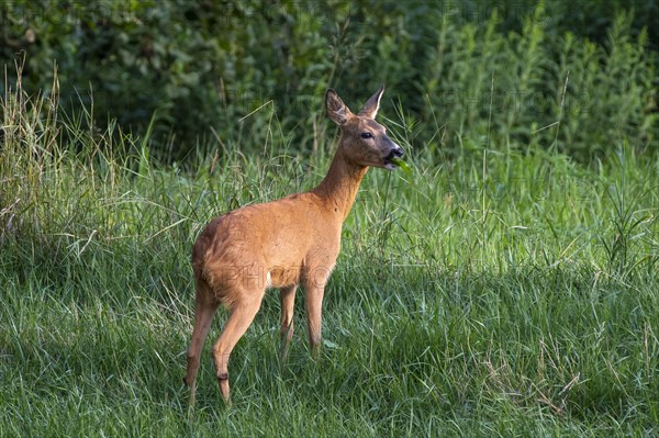
[(313, 190), (278, 201), (244, 206), (215, 217), (192, 249), (194, 328), (185, 378), (194, 404), (201, 349), (220, 304), (228, 319), (213, 346), (220, 392), (227, 404), (228, 358), (260, 307), (267, 288), (279, 288), (281, 356), (293, 336), (293, 301), (302, 283), (306, 297), (309, 341), (314, 356), (321, 347), (324, 287), (340, 247), (342, 225), (369, 167), (393, 169), (403, 149), (375, 121), (383, 87), (353, 114), (336, 91), (328, 90), (330, 119), (340, 126), (338, 148), (327, 176)]

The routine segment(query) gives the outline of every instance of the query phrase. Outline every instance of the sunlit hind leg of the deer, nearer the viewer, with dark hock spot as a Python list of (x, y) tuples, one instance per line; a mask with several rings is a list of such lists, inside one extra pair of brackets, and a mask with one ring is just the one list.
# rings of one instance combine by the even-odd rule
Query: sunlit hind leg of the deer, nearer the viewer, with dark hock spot
[(213, 346), (213, 359), (220, 392), (226, 404), (231, 405), (228, 393), (228, 358), (241, 337), (254, 321), (265, 291), (246, 293), (245, 299), (233, 303), (226, 324)]

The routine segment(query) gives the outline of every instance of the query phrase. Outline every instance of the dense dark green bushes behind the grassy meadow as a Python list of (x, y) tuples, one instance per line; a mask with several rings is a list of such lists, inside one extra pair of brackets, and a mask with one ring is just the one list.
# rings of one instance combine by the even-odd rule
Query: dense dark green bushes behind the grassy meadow
[(418, 147), (536, 142), (588, 160), (657, 138), (658, 11), (636, 3), (12, 1), (0, 54), (10, 76), (25, 59), (33, 91), (56, 66), (63, 103), (93, 100), (100, 125), (153, 122), (169, 159), (216, 144), (211, 127), (267, 141), (272, 116), (311, 148), (328, 86), (351, 103), (386, 82), (386, 114), (400, 101)]

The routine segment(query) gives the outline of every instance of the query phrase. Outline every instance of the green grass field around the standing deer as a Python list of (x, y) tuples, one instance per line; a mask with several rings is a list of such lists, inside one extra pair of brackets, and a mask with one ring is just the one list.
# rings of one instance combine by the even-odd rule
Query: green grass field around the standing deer
[(361, 186), (321, 358), (298, 324), (279, 363), (269, 293), (232, 356), (233, 407), (206, 345), (189, 423), (191, 245), (216, 214), (317, 183), (330, 123), (311, 157), (271, 125), (263, 156), (236, 151), (247, 137), (159, 166), (148, 137), (2, 103), (1, 436), (659, 434), (656, 154), (621, 144), (585, 166), (467, 137), (449, 153), (387, 122), (413, 171)]

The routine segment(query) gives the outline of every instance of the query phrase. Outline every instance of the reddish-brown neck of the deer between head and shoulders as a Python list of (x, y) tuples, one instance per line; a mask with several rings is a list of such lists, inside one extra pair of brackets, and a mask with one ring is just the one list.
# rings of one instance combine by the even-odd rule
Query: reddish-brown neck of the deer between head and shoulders
[(339, 147), (330, 165), (327, 175), (313, 190), (328, 209), (340, 216), (342, 223), (350, 213), (355, 203), (357, 190), (366, 175), (368, 166), (356, 165), (348, 161)]

